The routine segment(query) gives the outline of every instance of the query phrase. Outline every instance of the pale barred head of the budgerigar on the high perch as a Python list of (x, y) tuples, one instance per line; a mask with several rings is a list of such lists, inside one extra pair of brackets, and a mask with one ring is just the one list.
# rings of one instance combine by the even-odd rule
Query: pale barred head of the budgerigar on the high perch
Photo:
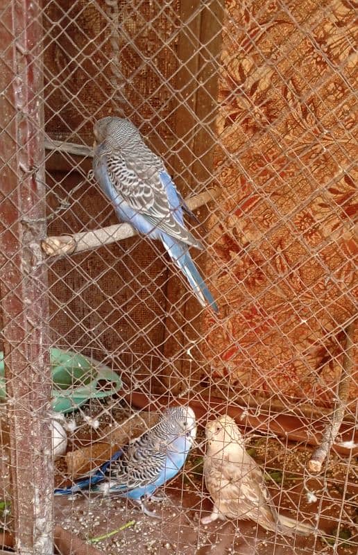
[(142, 142), (139, 130), (129, 119), (103, 117), (94, 123), (93, 133), (96, 144), (105, 142), (110, 148), (122, 148), (126, 144)]

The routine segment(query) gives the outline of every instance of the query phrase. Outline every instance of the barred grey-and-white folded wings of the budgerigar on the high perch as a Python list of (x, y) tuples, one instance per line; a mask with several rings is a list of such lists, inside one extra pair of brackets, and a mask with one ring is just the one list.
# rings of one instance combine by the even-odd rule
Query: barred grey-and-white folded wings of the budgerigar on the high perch
[(153, 228), (164, 231), (173, 239), (203, 248), (184, 227), (180, 200), (164, 166), (158, 169), (158, 164), (148, 162), (148, 157), (141, 160), (136, 153), (113, 152), (103, 144), (96, 148), (94, 164), (107, 166), (114, 186), (111, 200), (117, 204), (124, 201), (144, 216)]

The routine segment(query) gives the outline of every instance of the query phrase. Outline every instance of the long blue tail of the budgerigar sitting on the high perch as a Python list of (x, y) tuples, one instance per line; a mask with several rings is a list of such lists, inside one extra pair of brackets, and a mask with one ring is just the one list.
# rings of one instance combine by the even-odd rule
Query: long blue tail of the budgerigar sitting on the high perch
[(188, 246), (183, 243), (175, 243), (173, 238), (169, 237), (167, 234), (162, 235), (162, 241), (164, 247), (167, 249), (167, 253), (179, 266), (182, 273), (186, 276), (191, 289), (193, 289), (194, 294), (202, 307), (210, 305), (214, 312), (219, 312), (219, 309), (214, 301), (212, 293), (207, 289), (205, 281), (201, 277), (200, 273), (191, 259)]

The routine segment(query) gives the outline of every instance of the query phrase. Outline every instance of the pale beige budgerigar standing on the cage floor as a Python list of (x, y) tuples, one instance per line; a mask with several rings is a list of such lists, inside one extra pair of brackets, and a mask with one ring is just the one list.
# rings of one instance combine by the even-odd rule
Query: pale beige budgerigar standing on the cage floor
[(214, 500), (214, 509), (211, 515), (201, 519), (203, 524), (228, 518), (253, 520), (264, 529), (285, 536), (314, 532), (313, 527), (278, 514), (262, 470), (246, 453), (235, 420), (221, 416), (208, 422), (206, 437), (204, 476), (207, 490)]

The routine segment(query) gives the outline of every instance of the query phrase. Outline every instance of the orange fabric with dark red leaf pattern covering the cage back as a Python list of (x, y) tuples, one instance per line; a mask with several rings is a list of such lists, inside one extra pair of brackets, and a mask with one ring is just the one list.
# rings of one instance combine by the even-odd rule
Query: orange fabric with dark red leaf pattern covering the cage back
[(330, 403), (355, 314), (352, 2), (226, 8), (205, 356), (235, 391)]

